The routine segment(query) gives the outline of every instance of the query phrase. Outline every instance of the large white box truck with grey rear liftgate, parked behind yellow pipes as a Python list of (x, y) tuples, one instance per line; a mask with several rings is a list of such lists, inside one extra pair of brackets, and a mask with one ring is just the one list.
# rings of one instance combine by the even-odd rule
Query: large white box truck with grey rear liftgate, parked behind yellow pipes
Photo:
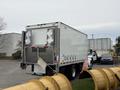
[(22, 69), (38, 66), (40, 73), (74, 79), (87, 54), (87, 34), (62, 22), (28, 25), (22, 32)]

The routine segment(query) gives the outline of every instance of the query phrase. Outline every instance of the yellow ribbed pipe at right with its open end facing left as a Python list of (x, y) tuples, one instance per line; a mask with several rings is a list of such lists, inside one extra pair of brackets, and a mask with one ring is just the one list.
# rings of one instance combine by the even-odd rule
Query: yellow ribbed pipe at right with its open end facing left
[(115, 90), (120, 87), (120, 67), (92, 69), (84, 73), (93, 79), (95, 90)]

